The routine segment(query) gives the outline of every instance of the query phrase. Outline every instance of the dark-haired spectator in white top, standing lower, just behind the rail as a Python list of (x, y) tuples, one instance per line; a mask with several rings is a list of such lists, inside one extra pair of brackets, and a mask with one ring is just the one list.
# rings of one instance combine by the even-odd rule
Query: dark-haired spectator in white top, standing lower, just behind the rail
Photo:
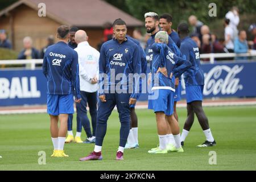
[(234, 52), (234, 31), (233, 28), (229, 26), (229, 19), (225, 19), (225, 47), (228, 49), (228, 52)]

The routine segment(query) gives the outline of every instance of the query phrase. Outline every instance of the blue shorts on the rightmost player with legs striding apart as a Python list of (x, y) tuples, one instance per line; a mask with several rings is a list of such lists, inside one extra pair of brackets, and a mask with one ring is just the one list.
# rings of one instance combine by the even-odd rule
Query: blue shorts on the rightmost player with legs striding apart
[(187, 103), (203, 101), (204, 85), (186, 86)]

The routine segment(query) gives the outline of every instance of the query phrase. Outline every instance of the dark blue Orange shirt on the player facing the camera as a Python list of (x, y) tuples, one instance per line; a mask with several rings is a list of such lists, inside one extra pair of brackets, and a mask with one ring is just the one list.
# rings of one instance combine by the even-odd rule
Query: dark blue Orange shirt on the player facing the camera
[(130, 97), (137, 97), (139, 82), (138, 80), (133, 81), (133, 77), (130, 78), (129, 74), (137, 73), (139, 76), (141, 73), (141, 54), (137, 44), (126, 39), (121, 44), (117, 39), (102, 44), (99, 61), (100, 88), (98, 92), (100, 95), (104, 94), (106, 90), (110, 93), (113, 93), (111, 92), (113, 90), (117, 92), (126, 90), (127, 93), (130, 93), (129, 88), (132, 88)]

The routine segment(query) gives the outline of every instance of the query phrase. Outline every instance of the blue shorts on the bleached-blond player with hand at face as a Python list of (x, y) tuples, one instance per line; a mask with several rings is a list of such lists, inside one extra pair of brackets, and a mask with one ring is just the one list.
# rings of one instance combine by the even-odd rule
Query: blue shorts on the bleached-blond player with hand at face
[(167, 89), (159, 89), (158, 98), (152, 100), (154, 112), (163, 111), (166, 115), (174, 113), (174, 92)]

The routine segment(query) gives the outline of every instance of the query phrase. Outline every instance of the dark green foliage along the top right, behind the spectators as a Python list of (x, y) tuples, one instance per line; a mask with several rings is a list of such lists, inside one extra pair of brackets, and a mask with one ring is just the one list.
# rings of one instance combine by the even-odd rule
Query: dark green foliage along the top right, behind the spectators
[[(112, 3), (112, 5), (117, 6), (118, 8), (126, 11), (126, 13), (129, 13), (130, 15), (133, 15), (135, 18), (138, 18), (142, 21), (144, 21), (144, 14), (149, 11), (154, 11), (159, 15), (163, 13), (170, 13), (174, 18), (172, 22), (174, 28), (176, 28), (180, 22), (187, 22), (190, 15), (196, 15), (201, 22), (208, 24), (210, 28), (214, 30), (216, 27), (212, 27), (211, 24), (218, 24), (218, 28), (222, 26), (221, 20), (233, 6), (238, 7), (240, 10), (240, 15), (254, 15), (254, 18), (251, 18), (249, 23), (255, 22), (256, 13), (256, 1), (254, 0), (125, 0), (122, 2), (122, 4), (116, 3), (116, 1), (106, 1)], [(208, 7), (209, 3), (216, 3), (217, 17), (210, 17), (208, 15), (210, 10)], [(127, 7), (127, 9), (124, 7)], [(240, 22), (243, 23), (242, 21)]]

